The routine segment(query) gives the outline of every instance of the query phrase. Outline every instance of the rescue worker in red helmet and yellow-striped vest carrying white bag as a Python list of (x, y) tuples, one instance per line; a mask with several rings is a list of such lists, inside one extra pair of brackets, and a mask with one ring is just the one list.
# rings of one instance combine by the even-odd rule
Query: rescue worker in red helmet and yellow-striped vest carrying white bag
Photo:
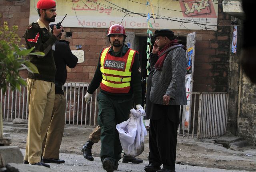
[(124, 27), (119, 24), (110, 26), (107, 36), (111, 46), (100, 52), (97, 69), (84, 99), (88, 103), (100, 86), (97, 100), (100, 158), (103, 168), (113, 172), (118, 168), (122, 152), (116, 125), (128, 120), (133, 101), (137, 109), (142, 108), (142, 90), (138, 52), (124, 46)]

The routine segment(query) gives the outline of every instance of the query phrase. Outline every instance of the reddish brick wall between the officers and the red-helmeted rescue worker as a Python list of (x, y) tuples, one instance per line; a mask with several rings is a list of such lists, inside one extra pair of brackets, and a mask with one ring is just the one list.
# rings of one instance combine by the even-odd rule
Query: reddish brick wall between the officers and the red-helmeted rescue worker
[[(84, 50), (84, 62), (78, 63), (74, 69), (68, 68), (67, 80), (76, 82), (90, 82), (94, 76), (100, 50), (108, 45), (106, 28), (65, 28), (65, 32), (72, 32), (72, 37), (62, 38), (70, 42), (71, 50), (75, 45), (82, 45)], [(63, 33), (65, 35), (65, 33)]]

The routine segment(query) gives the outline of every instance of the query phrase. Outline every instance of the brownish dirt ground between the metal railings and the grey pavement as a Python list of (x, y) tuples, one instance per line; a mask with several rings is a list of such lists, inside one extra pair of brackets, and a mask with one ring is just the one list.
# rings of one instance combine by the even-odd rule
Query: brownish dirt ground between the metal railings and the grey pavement
[[(60, 152), (79, 154), (82, 156), (81, 147), (88, 140), (93, 128), (80, 126), (66, 126), (60, 147)], [(12, 141), (12, 146), (25, 148), (27, 125), (4, 122), (4, 138)], [(149, 144), (148, 135), (145, 137), (145, 150), (138, 156), (142, 160), (148, 160)], [(92, 148), (94, 157), (100, 157), (100, 142)], [(256, 147), (247, 146), (239, 151), (230, 150), (214, 144), (213, 139), (194, 140), (178, 138), (176, 163), (202, 166), (209, 168), (221, 168), (228, 170), (256, 171)], [(61, 157), (60, 157), (61, 159)]]

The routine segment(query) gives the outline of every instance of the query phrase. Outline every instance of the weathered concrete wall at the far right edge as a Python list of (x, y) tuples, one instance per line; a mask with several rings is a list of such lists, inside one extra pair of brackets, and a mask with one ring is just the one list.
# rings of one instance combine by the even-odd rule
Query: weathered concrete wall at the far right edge
[[(232, 21), (243, 24), (243, 20), (232, 17)], [(232, 34), (233, 27), (230, 28)], [(230, 52), (229, 59), (229, 134), (242, 136), (250, 144), (256, 144), (256, 85), (252, 84), (240, 66), (242, 58), (243, 26), (238, 26), (237, 53)], [(231, 48), (230, 40), (230, 48)]]

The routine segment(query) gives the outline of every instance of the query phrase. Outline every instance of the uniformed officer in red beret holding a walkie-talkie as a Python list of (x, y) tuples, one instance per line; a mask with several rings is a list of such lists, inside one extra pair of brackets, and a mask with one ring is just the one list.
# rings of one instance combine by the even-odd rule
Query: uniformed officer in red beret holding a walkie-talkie
[(55, 72), (53, 58), (54, 42), (62, 32), (62, 27), (49, 26), (55, 21), (56, 2), (54, 0), (39, 0), (37, 3), (39, 19), (28, 26), (24, 34), (28, 49), (35, 47), (34, 51), (44, 52), (44, 56), (30, 55), (39, 73), (28, 72), (28, 136), (24, 164), (50, 167), (41, 162), (42, 141), (50, 124), (55, 97)]

